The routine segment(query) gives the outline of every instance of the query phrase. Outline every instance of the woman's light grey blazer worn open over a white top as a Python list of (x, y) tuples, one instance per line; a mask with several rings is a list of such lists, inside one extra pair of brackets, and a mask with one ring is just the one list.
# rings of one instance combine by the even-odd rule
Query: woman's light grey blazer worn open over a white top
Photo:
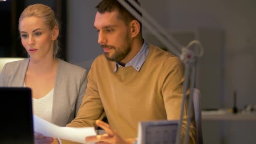
[[(29, 59), (5, 64), (0, 75), (0, 86), (23, 87)], [(52, 123), (70, 123), (81, 105), (87, 84), (87, 70), (59, 59), (53, 91)]]

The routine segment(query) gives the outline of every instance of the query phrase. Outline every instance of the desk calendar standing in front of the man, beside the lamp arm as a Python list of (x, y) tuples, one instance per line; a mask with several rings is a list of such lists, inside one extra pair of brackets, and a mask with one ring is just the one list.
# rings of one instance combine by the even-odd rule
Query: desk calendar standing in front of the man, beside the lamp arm
[(177, 120), (139, 122), (137, 144), (175, 144)]

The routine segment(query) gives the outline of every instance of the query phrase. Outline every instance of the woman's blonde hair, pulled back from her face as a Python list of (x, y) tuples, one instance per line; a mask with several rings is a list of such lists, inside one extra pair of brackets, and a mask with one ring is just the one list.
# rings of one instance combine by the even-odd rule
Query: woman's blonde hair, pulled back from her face
[[(53, 10), (50, 7), (48, 7), (47, 5), (43, 5), (43, 4), (29, 5), (21, 13), (21, 16), (19, 17), (19, 24), (22, 19), (24, 19), (25, 17), (30, 17), (30, 16), (36, 16), (38, 18), (43, 19), (44, 23), (47, 24), (50, 29), (53, 29), (55, 26), (57, 26), (58, 29), (60, 29), (59, 21), (56, 19)], [(53, 43), (54, 58), (56, 57), (59, 50), (60, 50), (59, 40), (58, 40), (58, 38), (56, 38), (56, 40)]]

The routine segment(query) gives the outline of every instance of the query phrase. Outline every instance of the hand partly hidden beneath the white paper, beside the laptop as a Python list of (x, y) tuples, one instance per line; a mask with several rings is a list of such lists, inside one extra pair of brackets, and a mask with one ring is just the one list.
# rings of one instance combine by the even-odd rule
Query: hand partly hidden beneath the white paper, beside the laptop
[(59, 144), (57, 139), (34, 132), (34, 144)]

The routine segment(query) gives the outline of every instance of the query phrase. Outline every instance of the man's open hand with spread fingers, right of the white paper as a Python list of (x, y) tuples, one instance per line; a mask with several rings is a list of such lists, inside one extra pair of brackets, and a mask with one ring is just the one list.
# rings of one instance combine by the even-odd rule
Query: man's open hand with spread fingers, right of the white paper
[(133, 144), (133, 141), (135, 141), (135, 139), (123, 139), (107, 123), (101, 120), (96, 120), (96, 125), (104, 129), (106, 134), (88, 136), (85, 141), (98, 141), (96, 144)]

